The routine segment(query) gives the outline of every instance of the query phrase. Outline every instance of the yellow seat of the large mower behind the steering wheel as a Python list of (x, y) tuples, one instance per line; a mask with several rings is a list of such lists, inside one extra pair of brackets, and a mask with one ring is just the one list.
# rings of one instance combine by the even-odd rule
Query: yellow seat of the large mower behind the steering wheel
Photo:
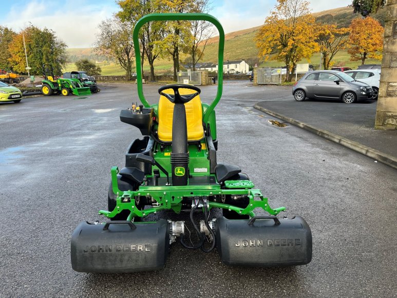
[[(181, 95), (192, 94), (193, 90), (181, 88)], [(166, 89), (164, 93), (174, 94), (173, 89)], [(157, 135), (162, 142), (172, 142), (172, 124), (174, 115), (174, 103), (160, 96), (158, 107)], [(199, 141), (204, 138), (204, 129), (202, 124), (202, 106), (200, 96), (196, 96), (190, 102), (185, 103), (186, 124), (187, 124), (187, 141)]]

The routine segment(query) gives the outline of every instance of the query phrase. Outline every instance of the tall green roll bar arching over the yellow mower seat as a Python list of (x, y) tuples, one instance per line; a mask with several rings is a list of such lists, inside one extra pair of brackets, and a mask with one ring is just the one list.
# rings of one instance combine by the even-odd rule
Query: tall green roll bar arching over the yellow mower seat
[[(203, 117), (203, 122), (207, 123), (211, 112), (214, 110), (222, 96), (222, 83), (223, 83), (223, 48), (224, 48), (224, 32), (222, 25), (212, 15), (206, 13), (151, 13), (147, 14), (139, 19), (134, 27), (134, 48), (135, 48), (135, 59), (136, 65), (141, 65), (141, 53), (139, 49), (138, 33), (143, 25), (152, 21), (207, 21), (215, 25), (219, 32), (219, 48), (218, 48), (218, 91), (215, 99), (211, 103), (210, 107), (206, 109)], [(220, 70), (221, 67), (222, 69)], [(150, 107), (143, 95), (142, 85), (142, 72), (137, 70), (137, 86), (138, 86), (138, 97), (145, 107)]]

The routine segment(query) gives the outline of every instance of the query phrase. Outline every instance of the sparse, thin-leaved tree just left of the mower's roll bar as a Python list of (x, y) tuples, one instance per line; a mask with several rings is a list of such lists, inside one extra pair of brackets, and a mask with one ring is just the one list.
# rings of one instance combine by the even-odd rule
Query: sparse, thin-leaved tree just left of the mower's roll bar
[(102, 21), (95, 42), (94, 51), (107, 57), (115, 58), (125, 70), (126, 80), (133, 79), (134, 42), (131, 24), (122, 22), (117, 15)]

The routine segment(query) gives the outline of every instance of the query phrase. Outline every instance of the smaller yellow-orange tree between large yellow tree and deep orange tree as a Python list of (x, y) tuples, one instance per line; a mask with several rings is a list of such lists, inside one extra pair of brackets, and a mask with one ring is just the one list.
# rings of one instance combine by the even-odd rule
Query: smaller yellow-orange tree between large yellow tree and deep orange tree
[(316, 42), (320, 47), (320, 53), (322, 53), (323, 67), (329, 69), (332, 66), (332, 59), (336, 53), (345, 49), (348, 45), (349, 28), (337, 28), (336, 25), (323, 25), (317, 26), (317, 39)]

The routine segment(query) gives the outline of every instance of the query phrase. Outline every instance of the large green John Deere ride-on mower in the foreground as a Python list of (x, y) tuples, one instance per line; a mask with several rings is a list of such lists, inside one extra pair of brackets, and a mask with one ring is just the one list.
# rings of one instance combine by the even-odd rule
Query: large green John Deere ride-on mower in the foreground
[[(142, 17), (133, 36), (136, 65), (141, 65), (139, 29), (147, 22), (175, 20), (213, 23), (219, 31), (218, 65), (223, 65), (222, 26), (213, 16), (201, 13)], [(125, 167), (110, 171), (108, 211), (99, 211), (109, 221), (83, 221), (74, 230), (72, 268), (101, 273), (157, 270), (165, 266), (169, 247), (178, 237), (187, 249), (210, 252), (216, 248), (228, 265), (308, 264), (312, 234), (306, 221), (300, 216), (278, 218), (284, 207), (271, 208), (238, 165), (217, 161), (214, 108), (222, 95), (222, 72), (218, 72), (217, 95), (211, 105), (201, 103), (198, 87), (180, 84), (160, 87), (159, 103), (150, 105), (143, 95), (141, 72), (137, 83), (142, 104), (139, 109), (122, 110), (120, 120), (139, 128), (143, 138), (128, 147)], [(223, 216), (214, 217), (212, 211), (219, 209)], [(268, 215), (255, 215), (255, 209)], [(162, 210), (187, 211), (191, 224), (171, 219), (142, 221)], [(185, 235), (188, 224), (194, 227), (197, 240)]]

